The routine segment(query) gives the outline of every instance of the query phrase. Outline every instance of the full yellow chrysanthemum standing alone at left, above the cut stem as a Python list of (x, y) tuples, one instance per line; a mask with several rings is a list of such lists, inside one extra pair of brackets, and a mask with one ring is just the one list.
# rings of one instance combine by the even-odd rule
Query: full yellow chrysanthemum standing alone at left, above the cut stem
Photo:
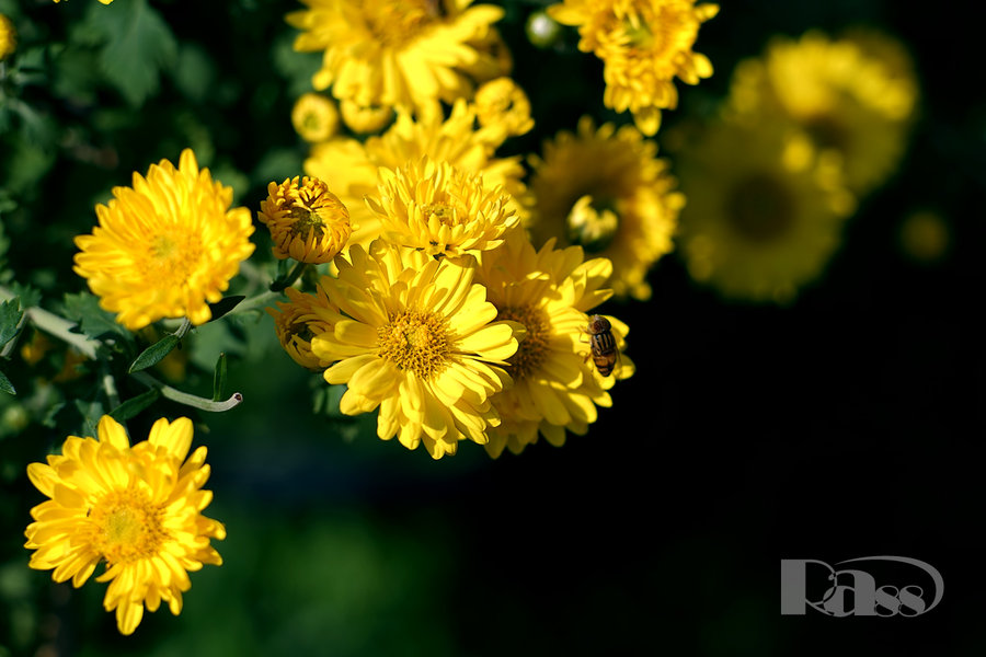
[(177, 169), (161, 160), (113, 196), (96, 206), (92, 234), (76, 238), (74, 272), (100, 306), (131, 331), (161, 318), (208, 322), (208, 303), (222, 298), (253, 253), (250, 210), (230, 209), (232, 188), (199, 171), (190, 149)]

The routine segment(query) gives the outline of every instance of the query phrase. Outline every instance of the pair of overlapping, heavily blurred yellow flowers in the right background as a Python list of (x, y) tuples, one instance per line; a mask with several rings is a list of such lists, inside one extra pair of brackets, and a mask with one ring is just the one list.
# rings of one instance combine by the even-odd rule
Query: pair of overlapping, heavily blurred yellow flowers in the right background
[(872, 32), (777, 38), (740, 62), (718, 120), (676, 160), (692, 278), (732, 299), (791, 301), (897, 166), (917, 99), (903, 46)]

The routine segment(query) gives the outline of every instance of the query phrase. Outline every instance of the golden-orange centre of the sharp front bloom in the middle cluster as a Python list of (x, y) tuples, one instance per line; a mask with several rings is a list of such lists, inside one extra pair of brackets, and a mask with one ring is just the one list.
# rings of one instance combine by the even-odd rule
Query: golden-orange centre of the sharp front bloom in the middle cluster
[(449, 349), (445, 321), (437, 314), (409, 309), (377, 330), (377, 354), (401, 369), (429, 379), (444, 369)]

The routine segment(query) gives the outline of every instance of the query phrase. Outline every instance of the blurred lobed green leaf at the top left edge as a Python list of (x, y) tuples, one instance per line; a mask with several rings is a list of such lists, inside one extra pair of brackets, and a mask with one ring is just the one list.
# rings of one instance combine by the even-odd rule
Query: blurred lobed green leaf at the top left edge
[(177, 57), (168, 23), (146, 0), (93, 4), (87, 22), (106, 39), (100, 53), (106, 80), (130, 105), (141, 105), (158, 91), (161, 70)]

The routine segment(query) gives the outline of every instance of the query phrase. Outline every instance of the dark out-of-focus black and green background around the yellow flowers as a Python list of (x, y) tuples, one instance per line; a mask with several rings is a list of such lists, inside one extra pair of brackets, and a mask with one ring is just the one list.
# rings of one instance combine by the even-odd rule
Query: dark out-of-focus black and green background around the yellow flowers
[[(22, 42), (67, 44), (32, 55), (39, 78), (19, 100), (33, 118), (0, 124), (7, 267), (45, 300), (83, 289), (71, 238), (130, 172), (191, 146), (256, 209), (268, 181), (301, 171), (307, 146), (289, 114), (319, 58), (291, 50), (283, 18), (299, 5), (151, 4), (173, 41), (139, 36), (157, 48), (148, 77), (100, 68), (100, 30), (119, 26), (99, 26), (94, 0), (0, 0)], [(507, 152), (538, 151), (583, 114), (629, 120), (603, 107), (601, 65), (574, 48), (574, 31), (536, 48), (525, 22), (544, 4), (503, 5), (537, 123)], [(563, 448), (542, 441), (496, 461), (468, 445), (432, 461), (374, 438), (372, 418), (313, 413), (318, 377), (279, 349), (268, 318), (198, 330), (179, 355), (190, 384), (208, 390), (225, 349), (246, 400), (197, 417), (225, 564), (192, 575), (180, 616), (149, 614), (131, 637), (102, 610), (103, 585), (76, 590), (27, 569), (23, 528), (41, 495), (24, 466), (65, 435), (14, 431), (4, 402), (0, 655), (984, 654), (977, 26), (960, 3), (721, 5), (696, 46), (715, 74), (678, 85), (658, 143), (707, 114), (733, 66), (772, 35), (865, 25), (915, 59), (921, 103), (906, 158), (847, 223), (823, 279), (787, 307), (729, 302), (665, 256), (650, 301), (604, 307), (630, 325), (638, 367), (614, 407)], [(902, 247), (917, 210), (947, 228), (940, 257)], [(187, 410), (154, 406), (131, 434), (161, 414)], [(917, 619), (779, 615), (779, 560), (872, 554), (935, 565), (941, 606)]]

